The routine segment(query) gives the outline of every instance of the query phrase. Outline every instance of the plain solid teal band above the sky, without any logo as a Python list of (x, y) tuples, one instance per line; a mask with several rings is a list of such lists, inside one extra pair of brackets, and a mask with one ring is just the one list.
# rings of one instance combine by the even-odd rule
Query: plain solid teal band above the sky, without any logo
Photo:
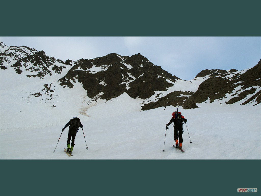
[(1, 36), (260, 36), (257, 1), (4, 1)]

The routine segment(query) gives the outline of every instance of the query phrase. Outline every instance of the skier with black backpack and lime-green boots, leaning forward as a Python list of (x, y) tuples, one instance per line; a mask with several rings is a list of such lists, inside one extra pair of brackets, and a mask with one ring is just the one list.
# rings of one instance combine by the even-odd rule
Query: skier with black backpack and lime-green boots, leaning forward
[[(70, 126), (69, 126), (70, 125)], [(67, 152), (72, 153), (73, 147), (74, 147), (74, 139), (76, 136), (76, 133), (78, 132), (79, 127), (83, 127), (83, 125), (80, 122), (80, 119), (77, 117), (73, 117), (73, 119), (70, 119), (70, 121), (64, 126), (62, 131), (66, 129), (66, 127), (69, 126), (68, 131), (68, 138), (67, 138)], [(70, 146), (70, 140), (72, 138), (72, 145)]]

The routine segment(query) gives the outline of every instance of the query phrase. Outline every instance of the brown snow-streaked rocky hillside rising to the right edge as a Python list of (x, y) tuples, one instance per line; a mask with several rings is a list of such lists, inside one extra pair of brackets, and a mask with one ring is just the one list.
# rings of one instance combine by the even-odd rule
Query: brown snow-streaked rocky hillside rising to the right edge
[[(233, 97), (226, 102), (227, 104), (241, 101), (252, 94), (251, 98), (242, 104), (247, 104), (255, 99), (256, 104), (260, 103), (261, 95), (258, 88), (261, 87), (261, 60), (245, 73), (236, 70), (227, 73), (226, 71), (204, 70), (197, 76), (204, 77), (207, 75), (210, 75), (210, 78), (201, 83), (198, 90), (185, 101), (184, 109), (197, 108), (197, 103), (202, 103), (207, 99), (210, 100), (210, 103), (215, 100), (222, 100), (227, 98), (229, 94)], [(240, 87), (240, 89), (235, 92), (237, 87)]]

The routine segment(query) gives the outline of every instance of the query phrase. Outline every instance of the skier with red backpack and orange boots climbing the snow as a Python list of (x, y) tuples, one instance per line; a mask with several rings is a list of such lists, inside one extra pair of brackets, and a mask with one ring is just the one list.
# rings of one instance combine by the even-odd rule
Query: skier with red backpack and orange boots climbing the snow
[(188, 120), (185, 119), (185, 117), (183, 115), (181, 115), (181, 112), (175, 111), (172, 113), (172, 118), (170, 119), (169, 123), (166, 124), (166, 126), (169, 126), (171, 123), (174, 124), (173, 125), (174, 126), (174, 141), (176, 142), (176, 147), (179, 147), (180, 149), (182, 149), (182, 143), (183, 143), (183, 138), (182, 138), (183, 122), (188, 122)]

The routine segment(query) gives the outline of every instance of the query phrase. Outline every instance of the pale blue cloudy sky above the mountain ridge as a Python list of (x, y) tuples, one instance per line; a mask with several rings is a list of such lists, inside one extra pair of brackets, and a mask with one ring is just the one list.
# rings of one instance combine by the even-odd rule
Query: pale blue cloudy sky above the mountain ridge
[(244, 70), (261, 59), (261, 37), (0, 37), (7, 46), (27, 46), (66, 61), (110, 53), (140, 53), (153, 64), (191, 80), (205, 69)]

